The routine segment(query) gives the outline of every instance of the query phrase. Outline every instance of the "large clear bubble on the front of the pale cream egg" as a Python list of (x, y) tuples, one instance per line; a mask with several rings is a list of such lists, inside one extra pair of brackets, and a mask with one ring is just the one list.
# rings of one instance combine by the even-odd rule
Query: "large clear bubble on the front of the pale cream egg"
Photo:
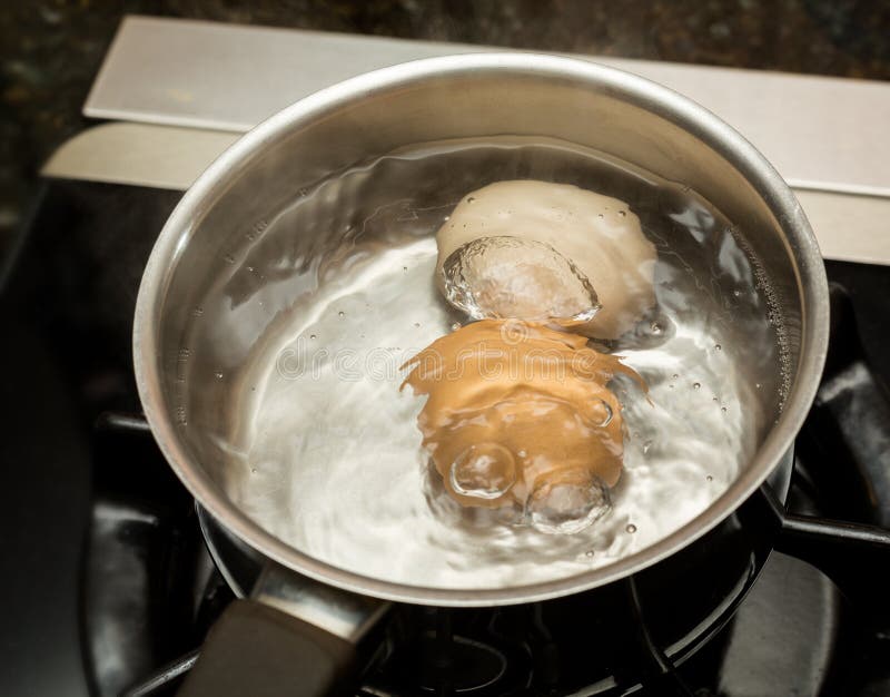
[(587, 322), (600, 310), (571, 259), (532, 239), (478, 237), (455, 249), (442, 273), (447, 301), (474, 320)]

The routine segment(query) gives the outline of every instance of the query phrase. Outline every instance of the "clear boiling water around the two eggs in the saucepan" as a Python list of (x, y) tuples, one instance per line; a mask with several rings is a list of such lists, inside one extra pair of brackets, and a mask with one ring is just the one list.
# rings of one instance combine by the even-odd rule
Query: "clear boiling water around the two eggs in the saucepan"
[[(453, 501), (421, 448), (422, 402), (399, 392), (403, 363), (466, 321), (435, 288), (435, 232), (466, 193), (516, 178), (625, 200), (657, 248), (655, 307), (600, 346), (645, 379), (651, 403), (613, 385), (624, 472), (611, 510), (575, 534)], [(682, 186), (556, 143), (464, 141), (367, 163), (295, 199), (236, 262), (225, 306), (196, 318), (194, 357), (208, 371), (230, 359), (220, 326), (258, 334), (243, 330), (247, 359), (225, 369), (216, 475), (249, 517), (308, 554), (438, 588), (573, 576), (701, 513), (778, 413), (778, 308), (739, 233)]]

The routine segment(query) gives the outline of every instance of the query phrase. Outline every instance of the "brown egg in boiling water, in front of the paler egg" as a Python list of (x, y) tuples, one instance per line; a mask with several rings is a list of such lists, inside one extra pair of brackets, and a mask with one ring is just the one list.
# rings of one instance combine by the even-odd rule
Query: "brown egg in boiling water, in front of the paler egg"
[[(447, 491), (465, 505), (525, 504), (555, 489), (613, 487), (621, 406), (606, 384), (642, 379), (583, 336), (483, 320), (406, 363), (404, 385), (427, 395), (417, 424)], [(567, 492), (567, 493), (566, 493)]]

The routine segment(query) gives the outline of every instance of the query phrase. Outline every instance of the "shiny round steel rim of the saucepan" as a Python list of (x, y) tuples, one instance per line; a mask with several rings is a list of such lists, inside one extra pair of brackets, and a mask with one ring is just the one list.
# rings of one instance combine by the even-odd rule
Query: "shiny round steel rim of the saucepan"
[[(162, 296), (166, 283), (166, 265), (176, 258), (178, 233), (188, 227), (190, 210), (197, 202), (212, 197), (226, 185), (226, 173), (249, 159), (254, 149), (277, 135), (287, 131), (295, 121), (313, 119), (328, 109), (348, 101), (355, 95), (368, 90), (411, 85), (414, 80), (434, 75), (462, 73), (465, 71), (520, 70), (552, 76), (554, 79), (571, 75), (572, 78), (592, 85), (620, 82), (622, 89), (640, 101), (657, 101), (660, 109), (678, 122), (691, 122), (695, 130), (709, 140), (721, 143), (725, 151), (732, 151), (745, 176), (758, 189), (772, 194), (772, 207), (777, 215), (793, 224), (802, 234), (795, 235), (795, 258), (801, 277), (809, 279), (809, 293), (804, 296), (803, 345), (799, 362), (799, 375), (791, 387), (785, 408), (775, 428), (769, 434), (751, 467), (709, 509), (661, 542), (621, 559), (607, 567), (595, 569), (567, 579), (546, 581), (503, 589), (443, 589), (406, 586), (382, 579), (369, 578), (334, 567), (286, 544), (254, 523), (234, 503), (219, 493), (218, 487), (200, 468), (181, 467), (189, 455), (178, 443), (176, 425), (171, 414), (164, 409), (158, 373), (156, 328), (159, 322), (157, 298)], [(779, 173), (739, 132), (695, 102), (649, 80), (627, 76), (612, 68), (587, 61), (528, 53), (493, 53), (449, 56), (432, 58), (385, 68), (353, 78), (322, 90), (276, 114), (259, 127), (238, 140), (217, 159), (186, 193), (170, 216), (158, 239), (146, 267), (137, 300), (134, 328), (134, 361), (136, 381), (148, 422), (164, 455), (189, 491), (200, 500), (210, 514), (225, 520), (227, 527), (251, 547), (274, 561), (322, 583), (343, 590), (368, 595), (379, 599), (434, 606), (481, 607), (515, 605), (545, 600), (589, 590), (614, 582), (631, 573), (642, 571), (674, 554), (720, 524), (750, 497), (777, 467), (792, 445), (800, 430), (821, 375), (828, 352), (829, 302), (828, 282), (815, 237), (792, 192)]]

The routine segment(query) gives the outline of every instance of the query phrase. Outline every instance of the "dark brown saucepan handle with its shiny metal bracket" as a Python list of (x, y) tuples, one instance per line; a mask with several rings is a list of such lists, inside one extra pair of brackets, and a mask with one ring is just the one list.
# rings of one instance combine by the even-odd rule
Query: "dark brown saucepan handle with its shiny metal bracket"
[(387, 608), (269, 563), (210, 629), (178, 696), (355, 694), (356, 645)]

